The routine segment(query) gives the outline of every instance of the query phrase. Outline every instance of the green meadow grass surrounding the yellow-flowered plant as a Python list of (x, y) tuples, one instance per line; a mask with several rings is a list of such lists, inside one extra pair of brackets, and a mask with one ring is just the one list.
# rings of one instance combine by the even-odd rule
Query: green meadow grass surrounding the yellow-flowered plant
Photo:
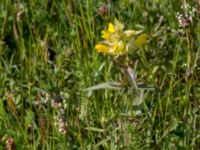
[[(0, 149), (8, 149), (9, 138), (19, 150), (198, 149), (200, 10), (193, 24), (176, 33), (181, 5), (172, 0), (1, 0)], [(99, 10), (103, 6), (105, 14)], [(130, 55), (138, 86), (145, 84), (138, 91), (112, 56), (94, 49), (101, 30), (115, 18), (126, 29), (150, 36)], [(114, 81), (125, 86), (85, 90)], [(57, 118), (67, 123), (65, 134)]]

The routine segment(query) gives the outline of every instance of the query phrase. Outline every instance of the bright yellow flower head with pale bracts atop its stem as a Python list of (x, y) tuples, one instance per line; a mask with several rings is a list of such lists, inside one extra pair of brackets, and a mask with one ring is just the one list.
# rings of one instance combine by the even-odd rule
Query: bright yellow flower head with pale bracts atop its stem
[(130, 47), (139, 47), (147, 43), (147, 35), (141, 34), (135, 40), (135, 30), (124, 30), (124, 25), (115, 20), (114, 24), (109, 23), (108, 28), (102, 31), (103, 41), (99, 42), (95, 49), (99, 53), (111, 54), (116, 57), (127, 53)]

